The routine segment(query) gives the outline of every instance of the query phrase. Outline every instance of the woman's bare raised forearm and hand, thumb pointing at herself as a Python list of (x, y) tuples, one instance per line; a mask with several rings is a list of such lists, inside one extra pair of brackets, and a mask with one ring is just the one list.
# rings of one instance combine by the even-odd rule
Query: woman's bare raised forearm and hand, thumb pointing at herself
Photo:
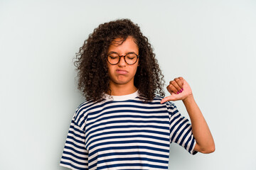
[(167, 90), (171, 96), (162, 99), (161, 103), (166, 101), (182, 100), (188, 115), (191, 118), (192, 132), (196, 139), (195, 150), (204, 154), (215, 151), (213, 136), (210, 133), (206, 120), (203, 118), (195, 99), (193, 98), (191, 87), (185, 79), (178, 77), (174, 81), (170, 81)]

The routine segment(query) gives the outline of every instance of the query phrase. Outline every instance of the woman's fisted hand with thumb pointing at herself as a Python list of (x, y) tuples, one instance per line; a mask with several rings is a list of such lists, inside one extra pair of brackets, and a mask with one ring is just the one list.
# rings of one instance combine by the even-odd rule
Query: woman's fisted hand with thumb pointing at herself
[(192, 96), (191, 87), (188, 85), (187, 81), (183, 79), (183, 77), (178, 77), (170, 81), (169, 86), (167, 86), (166, 89), (170, 92), (171, 96), (163, 98), (161, 103), (166, 101), (183, 101)]

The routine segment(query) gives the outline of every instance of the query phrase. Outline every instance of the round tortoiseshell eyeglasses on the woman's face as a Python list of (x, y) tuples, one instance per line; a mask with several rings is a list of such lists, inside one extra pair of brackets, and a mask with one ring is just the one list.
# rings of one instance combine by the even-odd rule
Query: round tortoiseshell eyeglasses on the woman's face
[(117, 52), (112, 52), (107, 57), (107, 62), (109, 62), (112, 65), (115, 65), (120, 62), (120, 58), (124, 57), (124, 61), (129, 64), (135, 64), (138, 60), (139, 55), (136, 55), (134, 53), (128, 53), (127, 55), (118, 55)]

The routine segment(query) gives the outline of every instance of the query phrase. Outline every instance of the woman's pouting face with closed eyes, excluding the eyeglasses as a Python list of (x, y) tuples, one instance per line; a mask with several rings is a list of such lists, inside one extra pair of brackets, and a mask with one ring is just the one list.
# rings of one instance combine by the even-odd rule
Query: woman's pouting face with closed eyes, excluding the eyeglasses
[[(132, 37), (128, 37), (124, 42), (121, 38), (116, 38), (110, 45), (107, 55), (116, 52), (118, 55), (127, 55), (128, 52), (134, 52), (139, 55), (139, 48)], [(119, 45), (122, 42), (122, 45)], [(110, 75), (110, 86), (117, 84), (127, 84), (134, 86), (134, 76), (137, 72), (139, 59), (135, 64), (129, 65), (124, 61), (124, 57), (120, 61), (112, 65), (107, 62), (108, 73)]]

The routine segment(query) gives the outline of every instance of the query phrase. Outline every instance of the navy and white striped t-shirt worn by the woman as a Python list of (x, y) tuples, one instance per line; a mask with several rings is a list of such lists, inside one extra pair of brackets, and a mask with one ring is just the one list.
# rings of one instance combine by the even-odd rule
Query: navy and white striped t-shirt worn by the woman
[(176, 142), (196, 154), (191, 123), (163, 97), (144, 103), (138, 91), (105, 94), (85, 101), (73, 116), (60, 166), (89, 170), (168, 169), (169, 147)]

